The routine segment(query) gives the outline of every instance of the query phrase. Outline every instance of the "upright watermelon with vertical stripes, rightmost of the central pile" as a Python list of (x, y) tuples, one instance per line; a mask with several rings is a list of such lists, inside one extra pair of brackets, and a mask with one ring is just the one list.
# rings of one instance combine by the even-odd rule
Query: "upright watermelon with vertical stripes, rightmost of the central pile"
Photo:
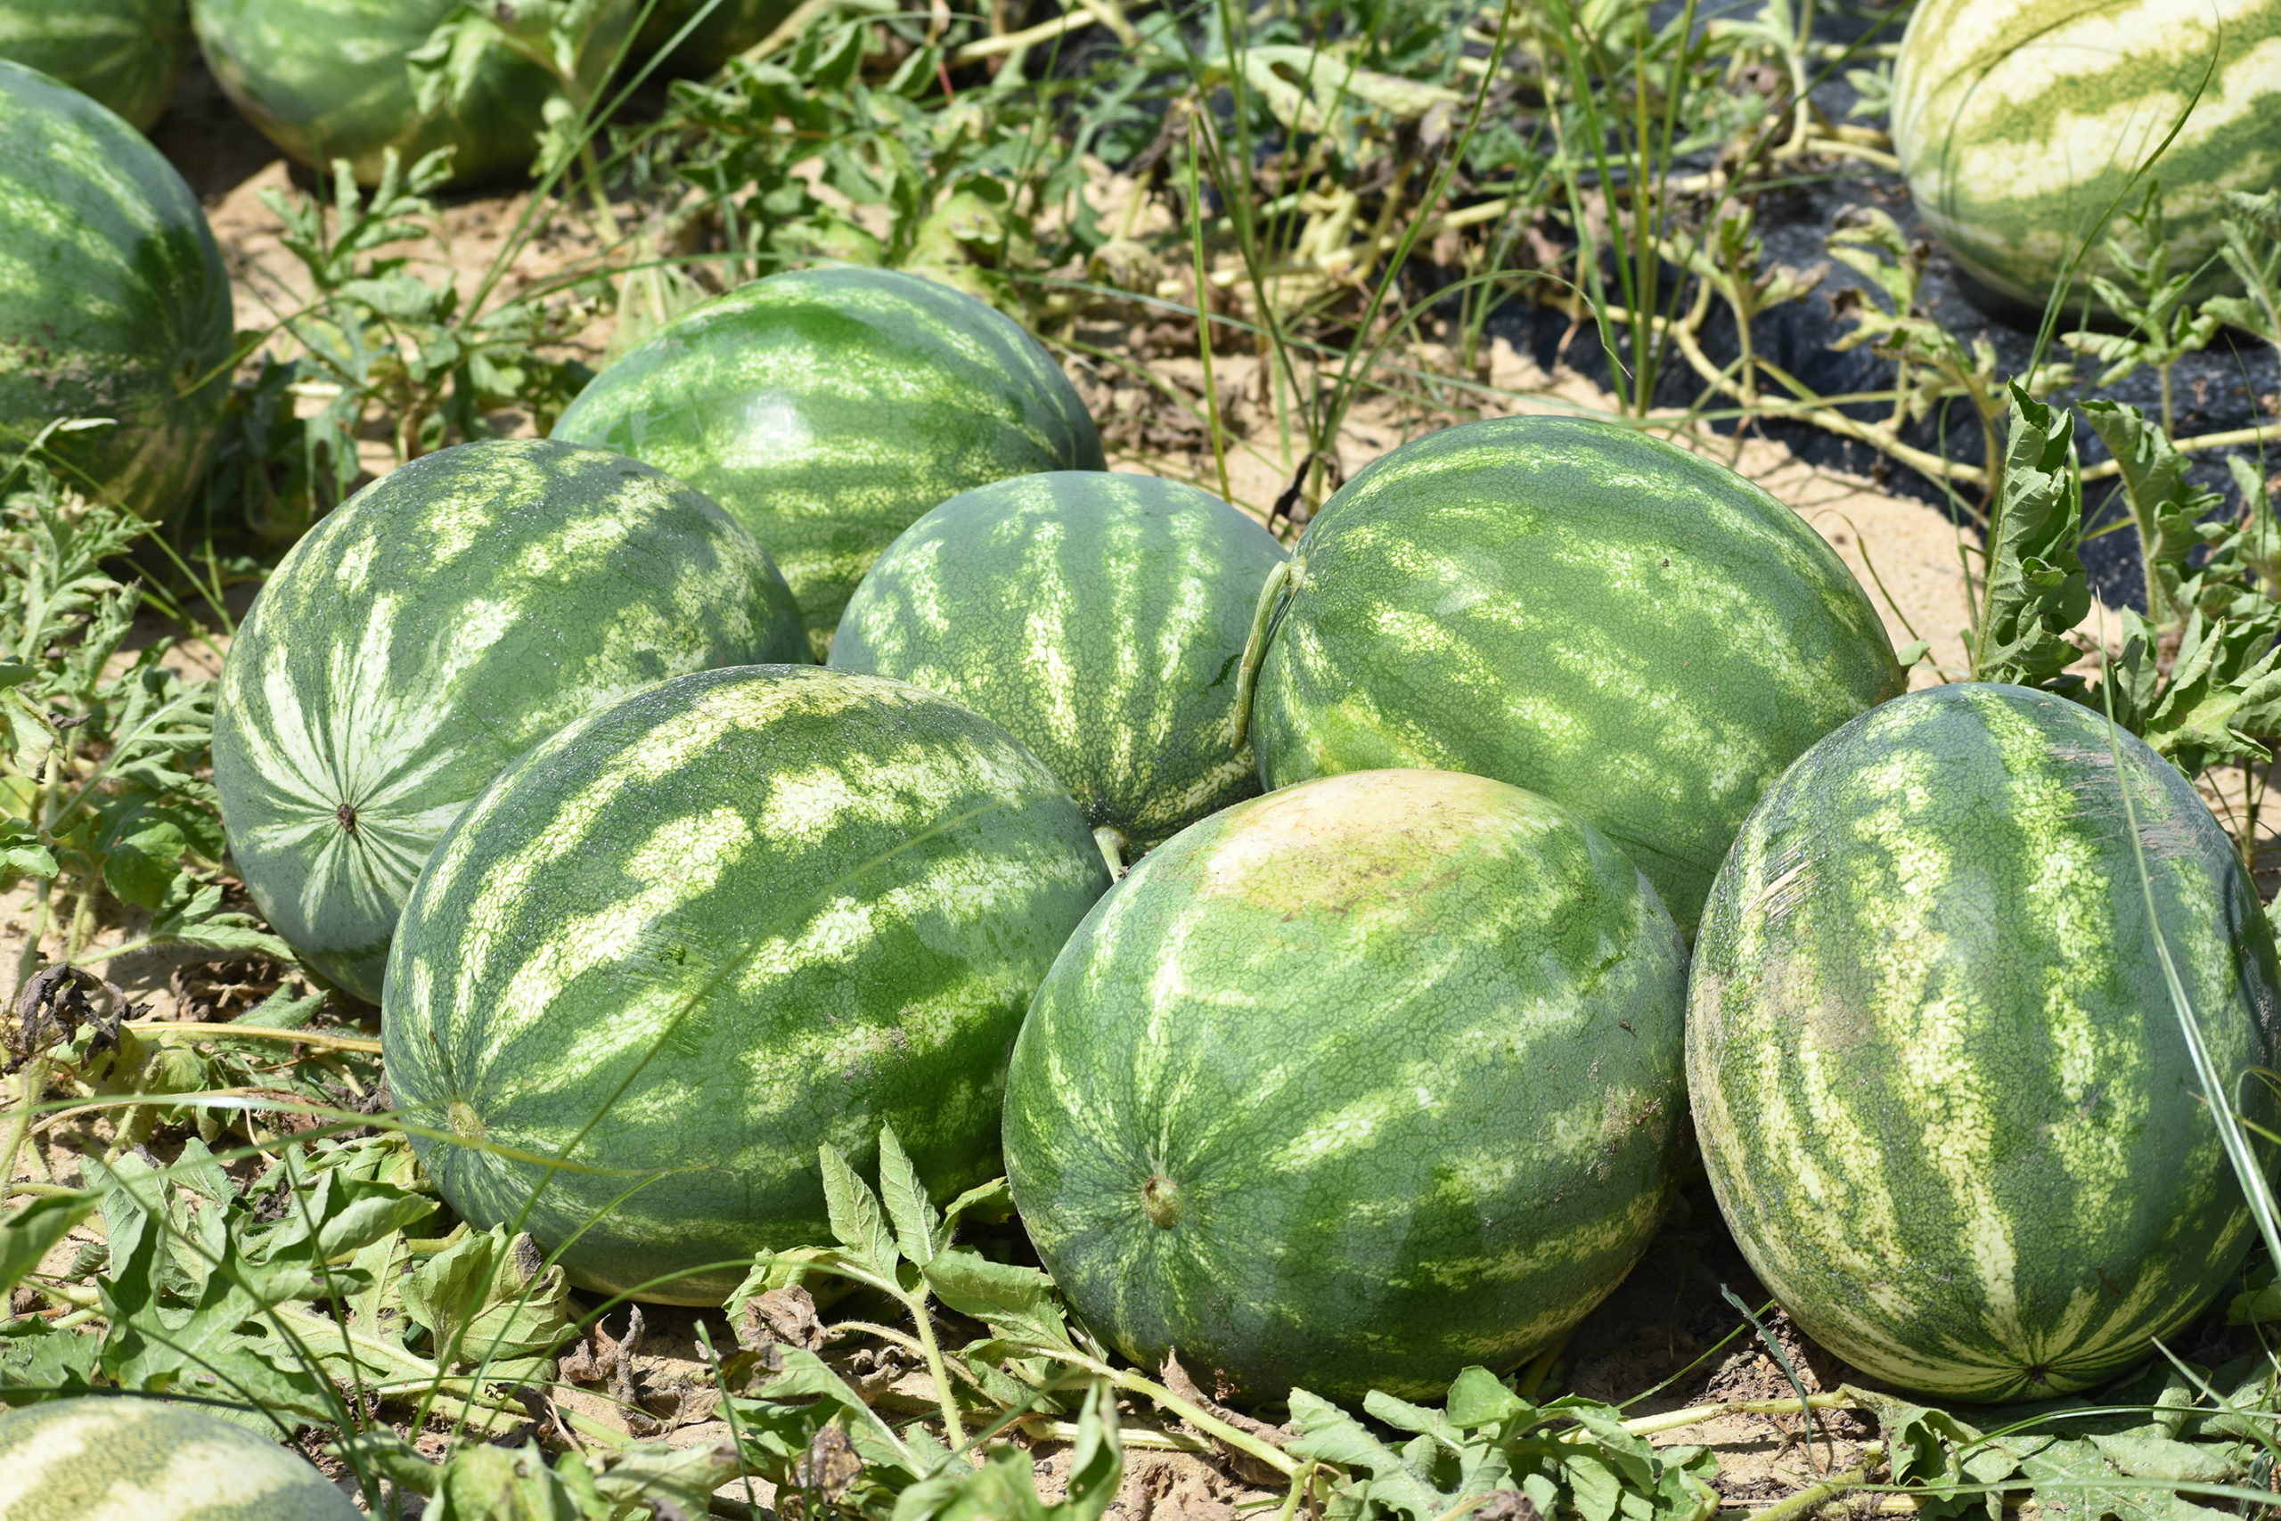
[(1688, 1088), (1759, 1279), (1859, 1368), (1959, 1400), (2087, 1389), (2233, 1282), (2249, 1211), (2149, 935), (2249, 1117), (2272, 930), (2174, 766), (2087, 707), (1939, 686), (1765, 794), (1704, 912)]

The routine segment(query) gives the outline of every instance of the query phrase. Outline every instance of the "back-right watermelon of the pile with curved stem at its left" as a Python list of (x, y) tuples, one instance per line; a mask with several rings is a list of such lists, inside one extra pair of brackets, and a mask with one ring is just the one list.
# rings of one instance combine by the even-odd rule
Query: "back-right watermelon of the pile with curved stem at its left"
[(1259, 771), (1494, 775), (1576, 810), (1693, 933), (1750, 805), (1902, 689), (1836, 552), (1731, 470), (1583, 417), (1430, 433), (1300, 538)]

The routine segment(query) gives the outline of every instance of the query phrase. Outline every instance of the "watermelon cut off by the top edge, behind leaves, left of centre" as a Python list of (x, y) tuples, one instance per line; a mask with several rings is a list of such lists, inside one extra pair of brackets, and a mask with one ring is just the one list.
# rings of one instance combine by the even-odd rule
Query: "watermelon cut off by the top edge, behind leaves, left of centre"
[[(458, 5), (196, 0), (192, 21), (224, 93), (297, 162), (326, 169), (349, 160), (358, 182), (372, 185), (385, 148), (404, 164), (452, 148), (452, 182), (468, 185), (531, 164), (554, 80), (497, 41), (454, 57), (454, 93), (422, 112), (406, 55)], [(607, 0), (579, 55), (584, 73), (607, 68), (636, 9), (636, 0)]]

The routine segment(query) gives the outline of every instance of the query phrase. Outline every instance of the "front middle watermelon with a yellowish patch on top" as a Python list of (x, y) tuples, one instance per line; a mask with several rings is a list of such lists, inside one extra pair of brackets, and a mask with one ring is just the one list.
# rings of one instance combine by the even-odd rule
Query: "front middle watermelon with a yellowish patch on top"
[(1439, 1396), (1560, 1341), (1686, 1156), (1686, 944), (1576, 814), (1446, 771), (1140, 860), (1015, 1042), (1006, 1174), (1086, 1325), (1211, 1389)]

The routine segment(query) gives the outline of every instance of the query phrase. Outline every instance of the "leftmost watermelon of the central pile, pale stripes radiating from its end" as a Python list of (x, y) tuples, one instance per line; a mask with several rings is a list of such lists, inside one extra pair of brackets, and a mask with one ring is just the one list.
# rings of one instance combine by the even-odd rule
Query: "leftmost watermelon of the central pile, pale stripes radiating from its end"
[(237, 629), (230, 855), (278, 935), (379, 1001), (420, 864), (511, 759), (652, 682), (805, 654), (766, 552), (673, 477), (531, 438), (429, 454), (294, 545)]

